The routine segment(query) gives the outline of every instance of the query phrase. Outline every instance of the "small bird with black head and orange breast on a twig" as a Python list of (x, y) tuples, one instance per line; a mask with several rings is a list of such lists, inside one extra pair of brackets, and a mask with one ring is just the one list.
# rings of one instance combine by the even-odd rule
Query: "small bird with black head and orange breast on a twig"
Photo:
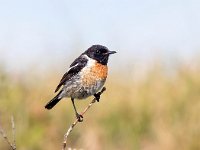
[(83, 116), (78, 113), (74, 100), (86, 99), (93, 95), (99, 101), (98, 91), (103, 87), (108, 74), (108, 59), (115, 53), (116, 51), (110, 51), (102, 45), (89, 47), (72, 62), (55, 89), (55, 93), (58, 94), (45, 108), (52, 109), (64, 97), (71, 98), (76, 118), (81, 122)]

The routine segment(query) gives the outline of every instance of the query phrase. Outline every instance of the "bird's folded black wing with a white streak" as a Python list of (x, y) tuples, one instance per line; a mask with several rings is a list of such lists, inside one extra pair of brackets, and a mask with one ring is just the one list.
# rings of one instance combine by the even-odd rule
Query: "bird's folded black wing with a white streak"
[(60, 87), (65, 84), (66, 81), (71, 79), (74, 75), (78, 74), (79, 71), (86, 66), (87, 64), (87, 58), (84, 57), (83, 55), (79, 56), (74, 60), (74, 62), (70, 65), (70, 68), (68, 71), (63, 75), (62, 79), (60, 80), (60, 83), (56, 87), (55, 92), (57, 92)]

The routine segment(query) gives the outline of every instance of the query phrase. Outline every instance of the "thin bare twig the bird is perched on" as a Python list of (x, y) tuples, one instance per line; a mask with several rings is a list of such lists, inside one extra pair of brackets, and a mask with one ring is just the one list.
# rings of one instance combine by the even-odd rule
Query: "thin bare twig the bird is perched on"
[[(102, 90), (98, 93), (99, 96), (106, 90), (105, 87), (102, 88)], [(88, 109), (96, 102), (96, 97), (89, 103), (89, 105), (85, 108), (85, 110), (81, 113), (81, 115), (83, 116), (87, 111)], [(64, 135), (64, 141), (63, 141), (63, 147), (62, 147), (62, 150), (66, 150), (66, 146), (67, 146), (67, 139), (68, 139), (68, 136), (69, 134), (72, 132), (73, 128), (76, 126), (76, 124), (78, 123), (78, 119), (76, 119), (74, 121), (74, 123), (71, 124), (71, 126), (69, 127), (69, 129), (67, 130), (67, 132), (65, 133)]]

